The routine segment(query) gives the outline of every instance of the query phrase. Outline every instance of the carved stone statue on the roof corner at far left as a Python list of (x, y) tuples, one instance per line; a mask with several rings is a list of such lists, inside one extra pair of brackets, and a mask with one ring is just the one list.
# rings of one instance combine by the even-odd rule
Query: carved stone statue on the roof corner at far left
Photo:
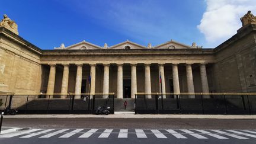
[(15, 23), (15, 21), (12, 21), (6, 14), (4, 14), (4, 18), (0, 22), (0, 26), (8, 28), (8, 30), (11, 30), (15, 34), (18, 34), (18, 25)]

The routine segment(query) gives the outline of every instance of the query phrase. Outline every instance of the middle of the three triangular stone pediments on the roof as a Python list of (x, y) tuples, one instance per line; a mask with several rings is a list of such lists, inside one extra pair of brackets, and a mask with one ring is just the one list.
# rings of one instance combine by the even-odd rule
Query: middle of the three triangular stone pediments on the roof
[(124, 41), (123, 43), (116, 44), (114, 46), (108, 47), (108, 49), (147, 49), (147, 47), (142, 46), (132, 41)]

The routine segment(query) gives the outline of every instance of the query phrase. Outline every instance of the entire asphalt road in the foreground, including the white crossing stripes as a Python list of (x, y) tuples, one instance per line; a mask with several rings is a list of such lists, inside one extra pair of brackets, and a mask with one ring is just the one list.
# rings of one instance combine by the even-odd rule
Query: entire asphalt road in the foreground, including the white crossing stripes
[(256, 143), (255, 120), (4, 119), (3, 126), (29, 129), (0, 135), (1, 144)]

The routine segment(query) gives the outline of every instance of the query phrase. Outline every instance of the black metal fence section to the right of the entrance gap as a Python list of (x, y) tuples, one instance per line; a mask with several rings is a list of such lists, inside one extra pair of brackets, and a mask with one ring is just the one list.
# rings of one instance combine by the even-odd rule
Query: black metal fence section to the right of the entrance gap
[(252, 94), (137, 94), (136, 114), (256, 114)]

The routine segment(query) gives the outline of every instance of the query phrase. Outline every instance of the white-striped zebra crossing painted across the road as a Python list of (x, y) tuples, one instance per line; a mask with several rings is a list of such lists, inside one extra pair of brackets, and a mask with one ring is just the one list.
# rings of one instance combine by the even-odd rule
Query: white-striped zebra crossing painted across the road
[[(17, 131), (18, 130), (18, 131)], [(136, 137), (145, 139), (254, 139), (256, 130), (200, 130), (200, 129), (29, 129), (10, 128), (2, 130), (1, 138), (18, 137), (21, 139), (39, 138), (47, 139), (58, 137), (61, 139), (77, 137), (86, 138), (109, 138), (126, 139)]]

